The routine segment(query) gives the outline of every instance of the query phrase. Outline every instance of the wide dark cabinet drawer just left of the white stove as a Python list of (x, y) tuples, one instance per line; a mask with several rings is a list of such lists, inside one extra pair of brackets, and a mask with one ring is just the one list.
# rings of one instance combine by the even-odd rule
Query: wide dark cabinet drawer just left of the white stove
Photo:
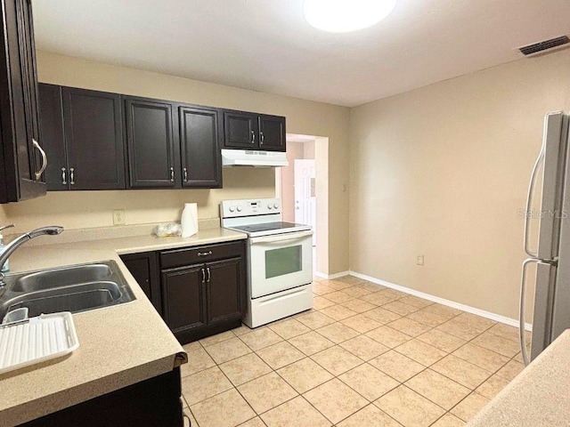
[(162, 270), (172, 269), (236, 256), (243, 256), (242, 240), (221, 245), (193, 246), (163, 251), (160, 253), (160, 268)]

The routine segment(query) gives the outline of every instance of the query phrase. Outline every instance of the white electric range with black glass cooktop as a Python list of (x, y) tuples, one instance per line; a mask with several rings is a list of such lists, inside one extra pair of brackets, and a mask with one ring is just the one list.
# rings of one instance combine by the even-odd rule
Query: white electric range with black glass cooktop
[(248, 235), (248, 310), (262, 326), (313, 308), (313, 230), (283, 222), (279, 198), (224, 200), (222, 227)]

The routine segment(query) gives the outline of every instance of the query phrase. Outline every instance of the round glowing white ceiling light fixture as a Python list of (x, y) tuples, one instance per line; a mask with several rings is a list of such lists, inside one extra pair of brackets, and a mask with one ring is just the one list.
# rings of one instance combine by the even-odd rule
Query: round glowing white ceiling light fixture
[(386, 18), (396, 0), (305, 0), (305, 20), (314, 28), (346, 33)]

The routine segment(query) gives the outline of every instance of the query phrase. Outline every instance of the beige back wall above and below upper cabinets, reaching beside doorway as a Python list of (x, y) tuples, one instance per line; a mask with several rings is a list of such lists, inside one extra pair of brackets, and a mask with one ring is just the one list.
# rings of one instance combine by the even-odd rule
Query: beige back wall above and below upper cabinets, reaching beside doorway
[[(281, 115), (287, 117), (290, 133), (328, 137), (329, 169), (334, 173), (329, 176), (329, 270), (324, 272), (332, 274), (347, 270), (348, 193), (343, 192), (343, 184), (349, 179), (346, 162), (349, 109), (50, 52), (38, 52), (37, 60), (40, 82)], [(208, 218), (217, 216), (217, 204), (221, 199), (273, 195), (274, 174), (271, 169), (224, 169), (222, 190), (52, 193), (41, 199), (4, 205), (0, 208), (0, 219), (4, 216), (4, 221), (18, 223), (20, 230), (55, 220), (71, 229), (100, 227), (110, 225), (111, 210), (123, 205), (127, 223), (173, 221), (179, 218), (183, 202), (188, 201), (198, 202), (199, 217)]]

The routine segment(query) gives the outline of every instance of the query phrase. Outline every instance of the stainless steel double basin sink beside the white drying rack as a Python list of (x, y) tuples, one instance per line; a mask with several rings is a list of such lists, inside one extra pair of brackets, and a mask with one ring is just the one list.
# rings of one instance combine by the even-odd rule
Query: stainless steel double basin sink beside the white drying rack
[(23, 308), (32, 318), (42, 313), (100, 309), (135, 299), (114, 261), (7, 275), (4, 281), (0, 323), (6, 314)]

